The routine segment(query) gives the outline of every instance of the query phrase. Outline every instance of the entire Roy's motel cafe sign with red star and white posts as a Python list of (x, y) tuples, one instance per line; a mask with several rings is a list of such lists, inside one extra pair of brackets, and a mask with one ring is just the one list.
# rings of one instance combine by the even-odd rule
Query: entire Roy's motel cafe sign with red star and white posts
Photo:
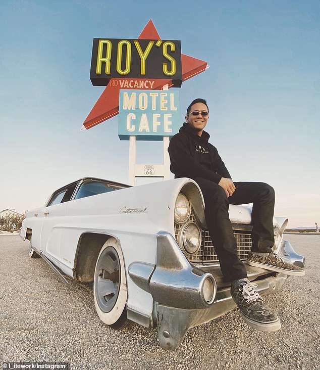
[[(94, 38), (90, 80), (106, 87), (81, 130), (119, 112), (119, 138), (129, 140), (129, 183), (136, 177), (169, 179), (169, 139), (181, 123), (179, 91), (169, 88), (206, 68), (206, 62), (181, 54), (181, 41), (161, 39), (151, 20), (137, 39)], [(137, 140), (163, 141), (163, 164), (137, 164)]]

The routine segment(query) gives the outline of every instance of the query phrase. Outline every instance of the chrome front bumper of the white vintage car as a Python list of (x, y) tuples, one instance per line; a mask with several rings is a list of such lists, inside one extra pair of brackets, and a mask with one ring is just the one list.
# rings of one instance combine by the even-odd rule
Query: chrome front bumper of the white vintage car
[[(287, 241), (282, 242), (278, 253), (291, 263), (304, 265), (303, 256), (297, 255)], [(227, 286), (219, 281), (219, 277), (219, 289), (215, 283), (213, 299), (207, 302), (203, 297), (203, 283), (208, 278), (215, 282), (217, 268), (219, 265), (206, 269), (192, 266), (174, 237), (167, 232), (157, 234), (156, 265), (134, 262), (129, 266), (130, 278), (152, 295), (153, 322), (157, 322), (162, 348), (177, 348), (188, 329), (235, 307), (230, 294), (230, 282)], [(249, 279), (257, 279), (255, 283), (261, 295), (281, 289), (288, 278), (285, 274), (251, 266), (247, 266), (247, 270)]]

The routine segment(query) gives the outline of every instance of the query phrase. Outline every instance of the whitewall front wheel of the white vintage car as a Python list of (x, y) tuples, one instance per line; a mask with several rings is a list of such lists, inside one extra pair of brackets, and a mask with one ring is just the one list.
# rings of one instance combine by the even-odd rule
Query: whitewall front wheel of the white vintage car
[(94, 304), (100, 319), (113, 329), (128, 325), (127, 281), (120, 243), (108, 239), (101, 248), (94, 270)]

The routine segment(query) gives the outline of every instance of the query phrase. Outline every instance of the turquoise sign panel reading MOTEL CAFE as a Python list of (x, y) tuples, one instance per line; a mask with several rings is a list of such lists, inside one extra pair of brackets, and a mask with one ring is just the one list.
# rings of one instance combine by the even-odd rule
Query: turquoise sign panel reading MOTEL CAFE
[(120, 140), (162, 140), (181, 126), (178, 90), (120, 90)]

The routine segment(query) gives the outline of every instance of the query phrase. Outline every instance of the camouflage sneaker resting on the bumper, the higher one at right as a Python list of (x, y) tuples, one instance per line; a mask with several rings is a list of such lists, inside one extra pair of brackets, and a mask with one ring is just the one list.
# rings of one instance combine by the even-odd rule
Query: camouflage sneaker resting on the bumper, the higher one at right
[(248, 265), (261, 267), (266, 270), (283, 272), (287, 275), (303, 276), (304, 268), (285, 262), (277, 254), (271, 252), (268, 256), (258, 256), (253, 252), (248, 253)]

